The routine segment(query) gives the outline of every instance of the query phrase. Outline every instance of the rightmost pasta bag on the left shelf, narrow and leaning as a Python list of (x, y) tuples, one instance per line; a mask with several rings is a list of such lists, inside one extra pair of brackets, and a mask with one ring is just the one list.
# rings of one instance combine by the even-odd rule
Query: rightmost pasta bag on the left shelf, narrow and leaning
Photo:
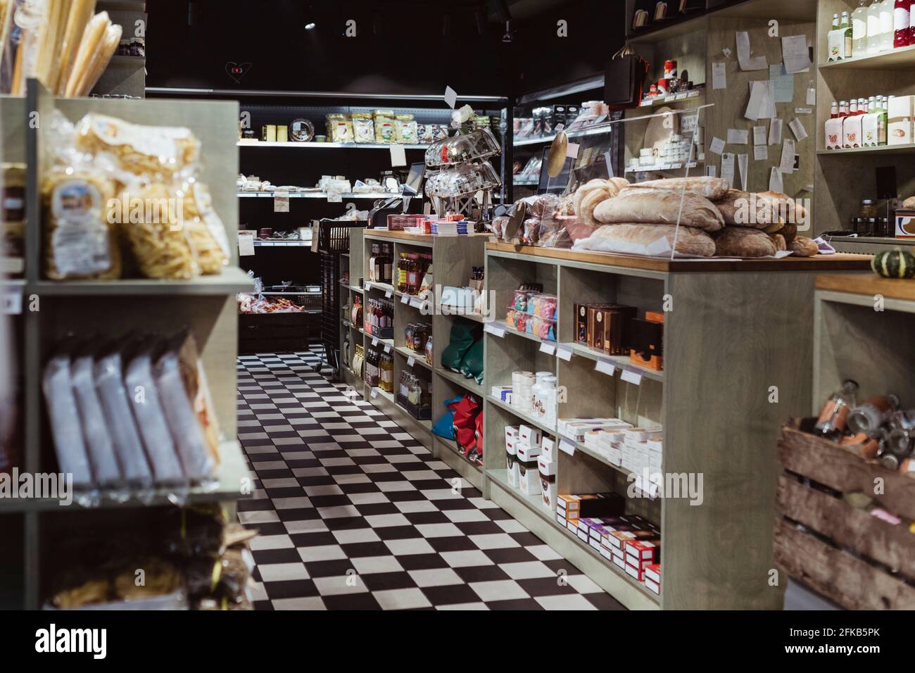
[(219, 274), (229, 264), (229, 237), (225, 225), (213, 208), (207, 186), (194, 178), (184, 180), (178, 188), (182, 200), (184, 228), (204, 276)]

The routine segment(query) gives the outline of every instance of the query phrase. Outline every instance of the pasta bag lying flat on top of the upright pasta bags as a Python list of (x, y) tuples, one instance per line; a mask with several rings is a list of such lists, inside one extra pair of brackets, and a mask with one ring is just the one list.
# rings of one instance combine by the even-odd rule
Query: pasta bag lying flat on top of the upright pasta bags
[(151, 179), (170, 180), (200, 157), (200, 142), (188, 128), (132, 124), (107, 114), (84, 116), (76, 125), (76, 145), (111, 154), (124, 170)]

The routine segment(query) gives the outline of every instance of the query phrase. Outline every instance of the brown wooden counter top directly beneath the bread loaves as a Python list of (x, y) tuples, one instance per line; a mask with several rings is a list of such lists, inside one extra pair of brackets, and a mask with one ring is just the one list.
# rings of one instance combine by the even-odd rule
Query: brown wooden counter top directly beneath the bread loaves
[(594, 251), (569, 250), (567, 248), (546, 248), (536, 245), (512, 245), (488, 243), (487, 250), (502, 253), (517, 253), (545, 259), (566, 262), (622, 266), (674, 273), (702, 272), (760, 272), (760, 271), (864, 271), (870, 269), (871, 255), (836, 253), (815, 257), (782, 257), (781, 259), (668, 259), (664, 257), (640, 257), (636, 255), (614, 255)]

